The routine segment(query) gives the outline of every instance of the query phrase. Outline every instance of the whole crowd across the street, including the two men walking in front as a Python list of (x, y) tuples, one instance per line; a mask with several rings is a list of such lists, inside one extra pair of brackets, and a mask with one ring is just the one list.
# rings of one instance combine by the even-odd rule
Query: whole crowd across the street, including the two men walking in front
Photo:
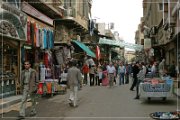
[[(32, 108), (31, 115), (36, 115), (35, 109), (35, 94), (37, 92), (36, 71), (31, 68), (29, 61), (24, 63), (25, 69), (22, 71), (22, 103), (20, 105), (19, 117), (25, 117), (25, 106), (28, 95), (31, 97)], [(69, 104), (70, 106), (77, 107), (77, 94), (82, 85), (89, 86), (109, 86), (112, 88), (114, 85), (129, 84), (130, 76), (132, 76), (131, 91), (136, 88), (136, 97), (139, 99), (139, 83), (146, 77), (163, 77), (170, 75), (171, 77), (177, 77), (179, 75), (179, 67), (173, 64), (169, 67), (169, 70), (165, 66), (165, 59), (158, 64), (154, 62), (151, 64), (145, 64), (144, 62), (133, 62), (132, 64), (124, 63), (123, 61), (116, 62), (104, 62), (102, 64), (95, 64), (92, 59), (83, 63), (82, 66), (77, 64), (77, 61), (70, 61), (67, 66), (62, 70), (61, 83), (67, 84), (70, 89)]]

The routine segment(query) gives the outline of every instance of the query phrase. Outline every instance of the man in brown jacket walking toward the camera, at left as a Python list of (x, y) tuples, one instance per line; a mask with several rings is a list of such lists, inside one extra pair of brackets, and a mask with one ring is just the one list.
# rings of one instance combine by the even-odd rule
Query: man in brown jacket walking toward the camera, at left
[(25, 109), (26, 103), (28, 99), (28, 95), (30, 96), (32, 106), (30, 116), (36, 115), (36, 92), (37, 92), (37, 84), (38, 80), (36, 80), (36, 71), (31, 68), (31, 64), (29, 61), (24, 62), (24, 70), (21, 73), (21, 81), (22, 81), (22, 102), (20, 105), (19, 118), (25, 118)]

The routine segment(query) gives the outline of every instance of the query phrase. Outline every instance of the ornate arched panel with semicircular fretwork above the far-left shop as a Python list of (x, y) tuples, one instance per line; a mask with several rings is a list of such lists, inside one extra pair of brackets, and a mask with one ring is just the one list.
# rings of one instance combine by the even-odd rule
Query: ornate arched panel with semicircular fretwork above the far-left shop
[(8, 3), (0, 4), (0, 34), (26, 40), (27, 15)]

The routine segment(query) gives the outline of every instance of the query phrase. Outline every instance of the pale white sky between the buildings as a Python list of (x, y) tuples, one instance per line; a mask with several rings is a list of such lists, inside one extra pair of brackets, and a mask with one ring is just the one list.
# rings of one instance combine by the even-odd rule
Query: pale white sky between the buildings
[(125, 42), (135, 43), (135, 32), (143, 16), (142, 0), (93, 0), (92, 18), (114, 23), (114, 30)]

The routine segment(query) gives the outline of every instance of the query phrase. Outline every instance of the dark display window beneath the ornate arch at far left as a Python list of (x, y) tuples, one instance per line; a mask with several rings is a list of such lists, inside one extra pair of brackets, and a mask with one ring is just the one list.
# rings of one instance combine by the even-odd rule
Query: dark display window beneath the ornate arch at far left
[(18, 48), (11, 42), (0, 42), (0, 98), (15, 95), (18, 77)]

